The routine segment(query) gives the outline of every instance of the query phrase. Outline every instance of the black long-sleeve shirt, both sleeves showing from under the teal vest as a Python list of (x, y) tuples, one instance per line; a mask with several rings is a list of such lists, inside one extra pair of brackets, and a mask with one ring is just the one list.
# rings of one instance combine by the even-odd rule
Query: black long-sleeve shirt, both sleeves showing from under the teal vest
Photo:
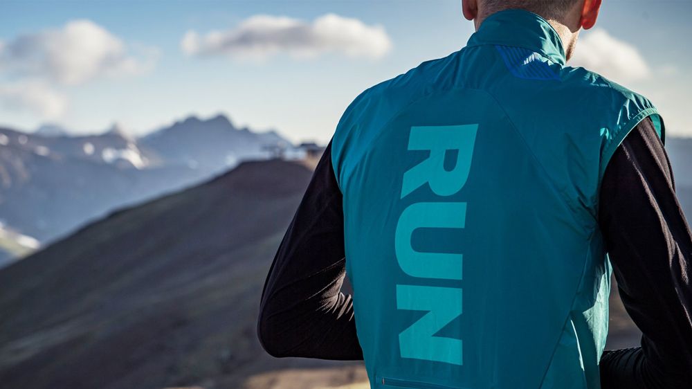
[[(692, 235), (650, 118), (612, 156), (599, 226), (641, 347), (605, 352), (603, 389), (692, 387)], [(345, 278), (342, 194), (322, 154), (264, 285), (257, 332), (273, 356), (360, 360)]]

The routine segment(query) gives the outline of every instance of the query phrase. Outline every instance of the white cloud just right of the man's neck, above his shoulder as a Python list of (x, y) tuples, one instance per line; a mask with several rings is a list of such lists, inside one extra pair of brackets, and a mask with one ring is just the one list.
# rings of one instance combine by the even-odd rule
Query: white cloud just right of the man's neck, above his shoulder
[(570, 66), (583, 66), (614, 81), (637, 81), (649, 78), (651, 70), (632, 44), (595, 28), (584, 33), (576, 44)]

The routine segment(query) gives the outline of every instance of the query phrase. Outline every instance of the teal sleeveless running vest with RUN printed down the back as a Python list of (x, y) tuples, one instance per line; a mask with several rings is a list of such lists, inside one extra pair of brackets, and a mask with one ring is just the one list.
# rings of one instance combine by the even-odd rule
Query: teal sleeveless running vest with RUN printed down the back
[(372, 388), (599, 388), (605, 166), (652, 103), (525, 10), (367, 89), (332, 141)]

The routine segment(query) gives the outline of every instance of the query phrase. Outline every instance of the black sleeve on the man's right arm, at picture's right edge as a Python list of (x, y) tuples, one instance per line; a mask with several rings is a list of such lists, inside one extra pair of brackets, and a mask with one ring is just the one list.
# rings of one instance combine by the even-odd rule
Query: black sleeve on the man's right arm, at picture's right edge
[(603, 354), (602, 388), (691, 388), (692, 236), (650, 118), (612, 156), (599, 201), (619, 293), (643, 334), (641, 347)]

